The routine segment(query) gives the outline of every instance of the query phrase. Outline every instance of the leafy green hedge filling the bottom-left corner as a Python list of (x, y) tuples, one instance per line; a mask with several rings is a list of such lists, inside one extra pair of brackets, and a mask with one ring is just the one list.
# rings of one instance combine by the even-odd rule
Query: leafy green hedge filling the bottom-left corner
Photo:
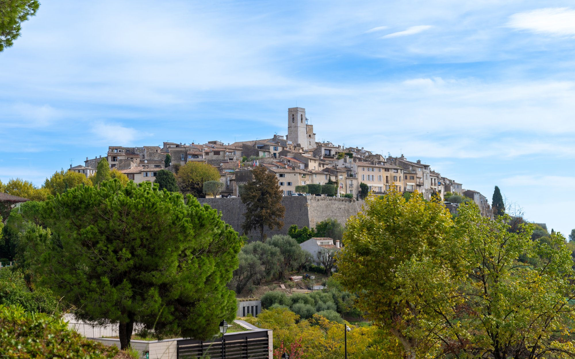
[(62, 318), (25, 311), (20, 305), (0, 304), (0, 357), (112, 359), (115, 346), (90, 341)]

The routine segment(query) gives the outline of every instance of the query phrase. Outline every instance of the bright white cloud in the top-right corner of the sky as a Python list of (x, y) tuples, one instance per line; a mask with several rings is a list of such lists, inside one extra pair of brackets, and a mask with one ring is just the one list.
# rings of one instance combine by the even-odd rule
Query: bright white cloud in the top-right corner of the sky
[(507, 26), (535, 33), (575, 36), (575, 10), (568, 7), (548, 7), (513, 14)]

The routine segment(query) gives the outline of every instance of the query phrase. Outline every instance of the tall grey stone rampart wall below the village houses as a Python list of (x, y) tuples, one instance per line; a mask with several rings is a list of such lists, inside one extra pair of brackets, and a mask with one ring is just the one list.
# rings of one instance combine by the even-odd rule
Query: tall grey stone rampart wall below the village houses
[[(240, 198), (198, 198), (202, 205), (208, 204), (222, 214), (222, 219), (237, 232), (242, 232), (241, 224), (244, 221), (246, 207)], [(335, 198), (320, 196), (286, 196), (282, 198), (282, 204), (286, 208), (281, 230), (270, 231), (265, 228), (268, 237), (275, 234), (287, 234), (292, 224), (301, 227), (315, 227), (317, 222), (328, 218), (335, 218), (340, 223), (346, 224), (349, 217), (361, 211), (363, 201), (352, 198)], [(252, 239), (259, 238), (258, 231), (248, 234)]]

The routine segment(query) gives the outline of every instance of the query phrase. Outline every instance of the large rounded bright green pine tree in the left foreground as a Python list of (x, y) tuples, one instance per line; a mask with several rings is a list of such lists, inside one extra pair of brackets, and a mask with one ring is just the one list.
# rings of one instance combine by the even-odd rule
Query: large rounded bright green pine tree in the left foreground
[(42, 203), (40, 223), (25, 233), (24, 267), (80, 319), (118, 322), (122, 349), (135, 322), (158, 337), (208, 338), (235, 315), (225, 284), (241, 240), (191, 196), (105, 181)]

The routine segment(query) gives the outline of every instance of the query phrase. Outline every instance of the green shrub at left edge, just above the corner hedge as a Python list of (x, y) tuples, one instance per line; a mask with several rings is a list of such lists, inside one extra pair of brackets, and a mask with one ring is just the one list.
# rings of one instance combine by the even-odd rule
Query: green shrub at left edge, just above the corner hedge
[(57, 300), (52, 291), (39, 288), (30, 291), (22, 273), (10, 268), (0, 269), (0, 305), (21, 305), (26, 312), (55, 314), (58, 312)]

